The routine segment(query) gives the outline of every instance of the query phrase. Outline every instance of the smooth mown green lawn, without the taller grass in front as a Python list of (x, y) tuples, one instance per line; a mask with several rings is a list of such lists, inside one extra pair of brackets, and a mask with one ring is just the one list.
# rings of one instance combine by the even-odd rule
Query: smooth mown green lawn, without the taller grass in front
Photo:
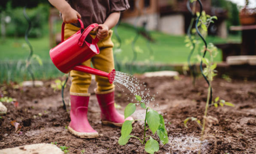
[[(133, 50), (131, 42), (133, 41), (136, 32), (129, 26), (121, 25), (118, 28), (119, 36), (122, 40), (121, 52), (117, 53), (117, 60), (131, 62), (133, 59)], [(147, 48), (147, 40), (143, 36), (139, 36), (135, 43), (135, 48), (138, 50), (137, 61), (153, 60), (161, 63), (183, 63), (186, 62), (190, 50), (185, 47), (184, 36), (170, 36), (161, 32), (152, 31), (152, 38), (155, 42), (150, 42), (150, 46), (154, 55), (150, 55), (150, 50)], [(239, 42), (239, 36), (221, 39), (218, 37), (209, 36), (208, 42)], [(50, 60), (49, 58), (49, 36), (43, 38), (29, 38), (34, 50), (34, 54), (41, 57), (42, 60)], [(116, 36), (113, 35), (113, 42), (117, 42)], [(0, 60), (21, 60), (26, 59), (29, 55), (29, 48), (25, 43), (24, 38), (7, 38), (0, 43)], [(154, 56), (154, 59), (151, 57)], [(215, 59), (221, 61), (221, 53)]]

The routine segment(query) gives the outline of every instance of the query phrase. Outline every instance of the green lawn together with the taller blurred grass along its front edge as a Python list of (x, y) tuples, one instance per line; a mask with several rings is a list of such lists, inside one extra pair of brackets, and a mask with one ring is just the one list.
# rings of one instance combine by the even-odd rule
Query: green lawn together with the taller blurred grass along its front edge
[[(47, 26), (47, 25), (46, 25)], [(56, 26), (56, 25), (55, 25)], [(61, 23), (57, 25), (61, 27)], [(47, 29), (47, 28), (45, 28)], [(136, 36), (136, 31), (127, 24), (121, 24), (118, 27), (118, 33), (121, 37), (121, 52), (115, 52), (117, 61), (122, 66), (130, 63), (133, 60), (132, 42)], [(32, 70), (36, 79), (55, 78), (63, 75), (50, 60), (49, 57), (49, 35), (47, 30), (42, 38), (29, 38), (29, 42), (33, 46), (34, 54), (40, 56), (43, 60), (43, 66), (39, 66), (35, 60), (32, 62)], [(151, 31), (151, 36), (155, 40), (149, 42), (145, 37), (139, 35), (135, 42), (135, 49), (137, 51), (137, 59), (135, 62), (155, 62), (155, 63), (186, 63), (190, 52), (189, 48), (185, 47), (185, 36), (171, 36), (157, 31)], [(209, 36), (207, 42), (225, 43), (225, 42), (240, 42), (240, 36), (229, 36), (227, 39)], [(113, 34), (113, 42), (115, 43), (114, 51), (118, 46), (117, 38)], [(150, 52), (148, 45), (152, 48)], [(195, 51), (195, 54), (198, 51)], [(0, 83), (9, 81), (23, 81), (31, 80), (27, 69), (25, 60), (29, 56), (29, 48), (25, 43), (24, 38), (6, 38), (5, 41), (0, 41)], [(221, 51), (215, 58), (215, 61), (221, 61)], [(154, 68), (156, 69), (156, 68)], [(163, 68), (164, 69), (164, 68)], [(46, 71), (47, 70), (47, 71)], [(133, 68), (128, 67), (121, 69), (123, 72), (143, 73), (149, 71), (147, 68)], [(152, 69), (151, 69), (152, 70)]]

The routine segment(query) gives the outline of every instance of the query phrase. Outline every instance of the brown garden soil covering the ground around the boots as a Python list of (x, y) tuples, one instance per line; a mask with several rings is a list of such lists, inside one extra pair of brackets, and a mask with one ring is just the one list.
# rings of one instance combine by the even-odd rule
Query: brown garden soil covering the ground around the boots
[[(141, 83), (145, 82), (152, 94), (156, 94), (155, 103), (159, 103), (157, 109), (163, 112), (168, 130), (169, 144), (160, 144), (160, 150), (156, 154), (181, 154), (197, 153), (200, 138), (200, 127), (195, 122), (188, 122), (188, 128), (184, 127), (183, 120), (187, 117), (196, 117), (202, 121), (205, 102), (207, 99), (207, 84), (200, 78), (196, 85), (192, 85), (192, 79), (180, 76), (180, 80), (168, 77), (144, 78), (138, 77)], [(121, 128), (103, 125), (100, 122), (100, 110), (96, 96), (93, 92), (95, 82), (90, 87), (92, 94), (89, 103), (88, 119), (92, 127), (99, 132), (96, 139), (79, 139), (72, 136), (65, 127), (70, 121), (69, 112), (63, 110), (60, 92), (53, 92), (50, 84), (54, 80), (45, 81), (44, 87), (16, 88), (10, 85), (1, 85), (7, 88), (7, 94), (16, 98), (18, 108), (11, 103), (4, 103), (8, 108), (6, 115), (0, 119), (0, 149), (22, 146), (35, 143), (57, 142), (57, 146), (66, 146), (70, 154), (144, 154), (144, 147), (140, 142), (131, 138), (125, 146), (118, 144)], [(69, 83), (70, 84), (70, 83)], [(68, 88), (65, 92), (65, 100), (68, 99)], [(121, 105), (123, 112), (130, 102), (129, 92), (116, 88), (116, 102)], [(158, 94), (157, 94), (158, 92)], [(203, 153), (210, 154), (255, 154), (256, 153), (256, 82), (223, 79), (215, 79), (213, 82), (214, 98), (235, 104), (235, 107), (211, 106), (208, 116), (211, 121), (207, 123), (206, 140), (202, 146)], [(68, 106), (68, 110), (70, 107)], [(41, 116), (39, 116), (41, 113)], [(22, 135), (15, 133), (15, 128), (10, 124), (12, 120), (22, 126)], [(143, 129), (140, 123), (133, 124), (133, 135), (142, 138)], [(151, 133), (148, 133), (151, 134)], [(153, 138), (158, 139), (155, 134)], [(180, 139), (180, 140), (179, 140)], [(185, 143), (185, 144), (184, 144)], [(216, 143), (216, 145), (215, 145)]]

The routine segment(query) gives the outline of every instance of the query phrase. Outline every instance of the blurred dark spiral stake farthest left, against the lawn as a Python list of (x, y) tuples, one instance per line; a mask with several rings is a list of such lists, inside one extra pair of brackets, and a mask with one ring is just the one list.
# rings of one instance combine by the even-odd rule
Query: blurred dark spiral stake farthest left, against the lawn
[(34, 74), (32, 72), (32, 68), (31, 68), (31, 64), (30, 64), (31, 57), (33, 55), (33, 48), (32, 48), (32, 46), (31, 46), (31, 44), (29, 42), (29, 39), (28, 39), (28, 35), (29, 35), (30, 30), (31, 30), (31, 20), (29, 19), (29, 16), (26, 13), (26, 8), (27, 8), (27, 6), (25, 6), (24, 9), (23, 9), (23, 15), (25, 16), (27, 22), (29, 23), (29, 27), (27, 28), (27, 30), (25, 32), (25, 41), (28, 44), (29, 49), (30, 49), (29, 57), (27, 58), (26, 67), (28, 69), (29, 74), (32, 77), (33, 87), (35, 87), (35, 76), (34, 76)]

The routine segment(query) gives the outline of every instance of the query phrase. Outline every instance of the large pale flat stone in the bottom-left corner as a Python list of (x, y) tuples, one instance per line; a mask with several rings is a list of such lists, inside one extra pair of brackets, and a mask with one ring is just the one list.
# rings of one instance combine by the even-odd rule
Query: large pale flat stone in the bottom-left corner
[(64, 154), (64, 152), (56, 145), (40, 143), (2, 149), (0, 154)]

